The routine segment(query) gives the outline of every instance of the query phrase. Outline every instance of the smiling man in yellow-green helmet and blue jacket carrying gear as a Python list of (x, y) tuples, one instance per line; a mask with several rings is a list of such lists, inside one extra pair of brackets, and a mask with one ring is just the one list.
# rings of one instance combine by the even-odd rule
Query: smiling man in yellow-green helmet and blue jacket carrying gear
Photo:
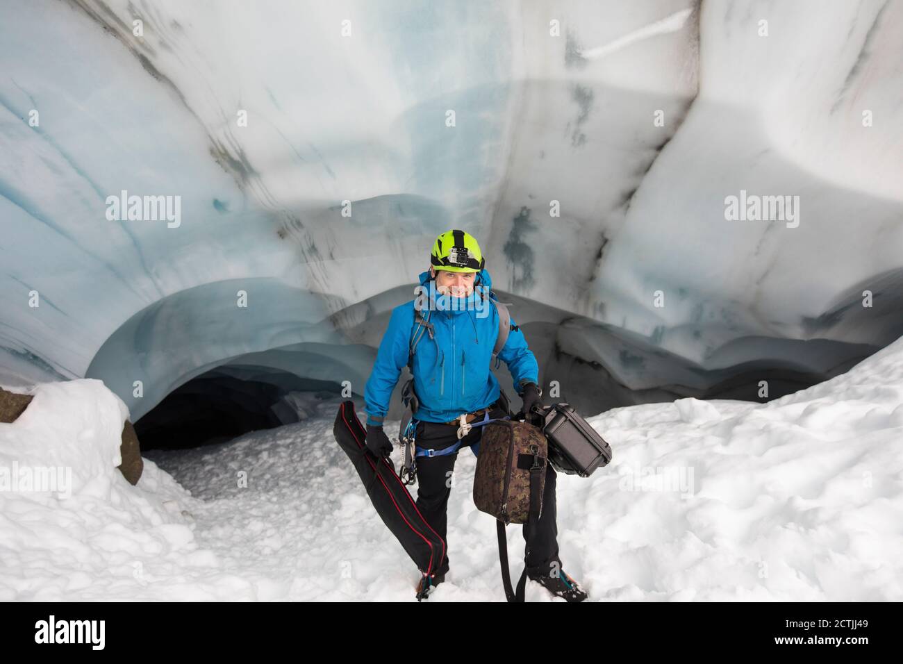
[[(414, 300), (396, 306), (379, 344), (364, 398), (368, 414), (367, 446), (373, 454), (387, 456), (392, 452), (392, 443), (383, 430), (383, 419), (401, 370), (408, 364), (412, 342), (416, 341), (411, 369), (419, 405), (412, 422), (417, 447), (433, 450), (432, 455), (417, 459), (416, 504), (424, 519), (444, 539), (446, 508), (452, 492), (448, 480), (458, 449), (478, 444), (483, 430), (482, 426), (473, 426), (469, 432), (462, 429), (464, 435), (459, 444), (461, 415), (466, 422), (476, 420), (474, 424), (477, 424), (487, 409), (490, 418), (510, 413), (501, 397), (498, 380), (489, 370), (498, 338), (498, 310), (490, 304), (492, 280), (484, 267), (477, 240), (458, 229), (442, 233), (433, 243), (430, 263), (429, 270), (420, 275), (420, 283), (425, 288), (432, 281), (435, 286), (423, 307), (426, 321), (421, 324), (415, 320)], [(517, 328), (513, 318), (498, 359), (511, 372), (523, 400), (523, 412), (528, 412), (533, 405), (541, 406), (539, 368), (533, 352), (527, 348), (524, 332)], [(586, 594), (564, 574), (558, 557), (556, 473), (551, 464), (547, 463), (546, 469), (543, 511), (536, 532), (531, 533), (528, 525), (524, 526), (524, 539), (530, 543), (532, 536), (532, 546), (528, 547), (525, 558), (527, 575), (552, 594), (569, 602), (581, 602)], [(434, 575), (424, 575), (418, 594), (424, 587), (442, 583), (448, 570), (446, 556)]]

